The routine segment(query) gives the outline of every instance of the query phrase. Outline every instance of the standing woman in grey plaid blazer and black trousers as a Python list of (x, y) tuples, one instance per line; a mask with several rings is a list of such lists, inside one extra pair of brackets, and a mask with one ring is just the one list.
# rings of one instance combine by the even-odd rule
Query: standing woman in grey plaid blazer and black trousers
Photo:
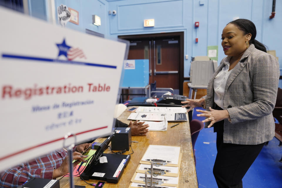
[(214, 127), (218, 187), (243, 187), (242, 178), (265, 142), (274, 137), (279, 64), (255, 40), (256, 26), (247, 19), (229, 22), (222, 31), (225, 57), (209, 80), (207, 95), (187, 99), (183, 107), (204, 106), (198, 116)]

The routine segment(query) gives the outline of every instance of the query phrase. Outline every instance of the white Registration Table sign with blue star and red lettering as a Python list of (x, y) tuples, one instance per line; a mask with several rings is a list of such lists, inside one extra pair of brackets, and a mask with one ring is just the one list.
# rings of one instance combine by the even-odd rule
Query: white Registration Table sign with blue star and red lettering
[(62, 148), (68, 132), (110, 134), (126, 44), (0, 16), (0, 171)]

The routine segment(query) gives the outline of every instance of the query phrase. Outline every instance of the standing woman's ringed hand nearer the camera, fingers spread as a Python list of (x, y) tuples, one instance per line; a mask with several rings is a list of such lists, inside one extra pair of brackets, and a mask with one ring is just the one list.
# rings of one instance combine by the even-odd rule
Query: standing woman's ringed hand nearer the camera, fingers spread
[(211, 122), (208, 127), (211, 127), (215, 122), (230, 118), (227, 110), (214, 110), (211, 107), (209, 107), (209, 110), (210, 111), (196, 110), (197, 112), (202, 112), (202, 114), (197, 114), (197, 116), (207, 117), (207, 119), (202, 121), (203, 123), (208, 121)]

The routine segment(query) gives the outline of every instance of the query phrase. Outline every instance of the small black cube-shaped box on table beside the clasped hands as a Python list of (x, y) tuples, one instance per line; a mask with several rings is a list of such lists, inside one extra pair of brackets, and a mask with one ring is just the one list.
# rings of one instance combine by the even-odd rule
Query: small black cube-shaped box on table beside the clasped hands
[(117, 127), (115, 132), (115, 136), (112, 139), (112, 150), (129, 151), (131, 145), (131, 128)]

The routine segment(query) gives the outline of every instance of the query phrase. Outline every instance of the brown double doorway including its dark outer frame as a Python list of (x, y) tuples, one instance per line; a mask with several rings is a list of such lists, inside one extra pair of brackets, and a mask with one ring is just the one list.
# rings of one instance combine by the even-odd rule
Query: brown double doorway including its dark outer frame
[(158, 88), (179, 89), (179, 94), (182, 95), (184, 32), (123, 35), (118, 37), (131, 43), (128, 59), (149, 59), (150, 83), (156, 80)]

